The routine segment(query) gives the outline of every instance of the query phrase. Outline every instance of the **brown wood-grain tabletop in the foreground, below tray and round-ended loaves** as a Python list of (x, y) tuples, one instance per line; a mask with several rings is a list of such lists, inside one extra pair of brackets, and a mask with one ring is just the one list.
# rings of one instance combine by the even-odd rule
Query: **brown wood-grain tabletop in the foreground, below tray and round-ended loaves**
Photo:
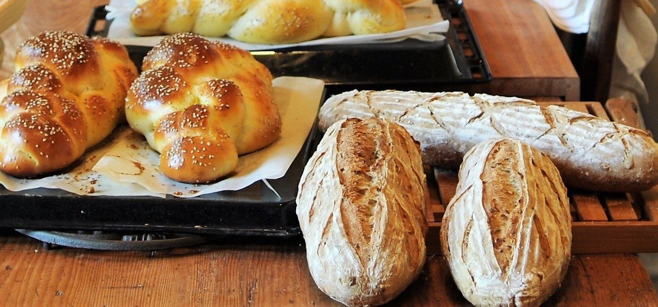
[[(438, 237), (437, 237), (438, 240)], [(6, 306), (340, 306), (318, 290), (304, 248), (211, 243), (156, 252), (44, 250), (0, 237)], [(428, 256), (420, 278), (389, 306), (464, 306), (447, 264)], [(655, 306), (658, 296), (632, 254), (579, 255), (545, 306)]]

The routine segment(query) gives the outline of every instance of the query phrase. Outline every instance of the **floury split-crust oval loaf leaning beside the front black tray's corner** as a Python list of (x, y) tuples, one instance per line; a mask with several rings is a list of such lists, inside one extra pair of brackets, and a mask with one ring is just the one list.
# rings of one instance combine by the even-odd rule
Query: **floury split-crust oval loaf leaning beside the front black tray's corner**
[(337, 122), (304, 168), (297, 217), (318, 288), (348, 306), (392, 300), (425, 262), (420, 149), (401, 126)]

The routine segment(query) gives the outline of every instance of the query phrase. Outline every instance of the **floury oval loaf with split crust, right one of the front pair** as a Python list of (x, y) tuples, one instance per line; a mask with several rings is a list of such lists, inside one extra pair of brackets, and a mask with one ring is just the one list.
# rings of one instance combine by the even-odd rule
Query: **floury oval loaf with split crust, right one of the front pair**
[(551, 160), (516, 139), (473, 147), (443, 214), (443, 256), (476, 306), (539, 306), (567, 272), (571, 216)]

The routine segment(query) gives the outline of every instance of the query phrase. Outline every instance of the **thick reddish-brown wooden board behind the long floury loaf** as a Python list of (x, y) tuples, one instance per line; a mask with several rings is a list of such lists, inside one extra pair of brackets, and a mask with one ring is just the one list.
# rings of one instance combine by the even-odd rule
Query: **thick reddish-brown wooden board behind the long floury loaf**
[(580, 100), (580, 78), (540, 5), (527, 0), (464, 0), (464, 5), (493, 74), (476, 91)]

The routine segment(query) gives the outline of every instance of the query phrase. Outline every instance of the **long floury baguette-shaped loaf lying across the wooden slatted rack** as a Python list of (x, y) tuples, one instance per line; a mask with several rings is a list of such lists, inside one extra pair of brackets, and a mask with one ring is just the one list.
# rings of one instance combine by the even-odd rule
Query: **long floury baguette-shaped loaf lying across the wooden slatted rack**
[(658, 144), (645, 131), (516, 97), (349, 91), (327, 99), (319, 126), (373, 116), (407, 128), (420, 141), (423, 162), (434, 166), (457, 168), (475, 144), (514, 137), (547, 154), (572, 187), (626, 192), (658, 183)]

